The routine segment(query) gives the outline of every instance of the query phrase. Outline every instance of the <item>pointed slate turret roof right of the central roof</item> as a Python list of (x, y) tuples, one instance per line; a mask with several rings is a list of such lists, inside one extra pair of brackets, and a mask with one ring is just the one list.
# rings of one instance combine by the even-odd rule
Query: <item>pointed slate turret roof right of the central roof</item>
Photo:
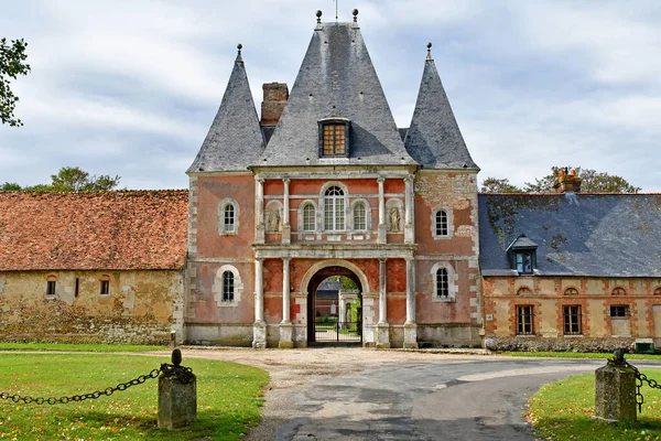
[(431, 55), (424, 63), (404, 144), (409, 154), (425, 169), (479, 170), (468, 153)]

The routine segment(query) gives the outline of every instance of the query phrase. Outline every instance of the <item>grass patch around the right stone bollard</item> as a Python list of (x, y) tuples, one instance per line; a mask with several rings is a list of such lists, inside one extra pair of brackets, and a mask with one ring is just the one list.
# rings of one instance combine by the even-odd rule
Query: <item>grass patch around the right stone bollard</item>
[[(661, 381), (661, 370), (642, 370)], [(595, 375), (583, 374), (544, 385), (530, 398), (525, 417), (546, 440), (661, 440), (661, 390), (643, 386), (644, 404), (637, 422), (590, 419), (595, 410)]]

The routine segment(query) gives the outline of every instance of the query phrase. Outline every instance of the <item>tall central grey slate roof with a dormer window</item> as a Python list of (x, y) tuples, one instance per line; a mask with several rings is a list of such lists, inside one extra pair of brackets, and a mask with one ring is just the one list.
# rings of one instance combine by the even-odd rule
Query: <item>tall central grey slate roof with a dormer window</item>
[[(334, 108), (335, 106), (335, 108)], [(351, 121), (350, 158), (319, 159), (317, 121)], [(356, 23), (317, 24), (282, 117), (254, 165), (413, 164)]]

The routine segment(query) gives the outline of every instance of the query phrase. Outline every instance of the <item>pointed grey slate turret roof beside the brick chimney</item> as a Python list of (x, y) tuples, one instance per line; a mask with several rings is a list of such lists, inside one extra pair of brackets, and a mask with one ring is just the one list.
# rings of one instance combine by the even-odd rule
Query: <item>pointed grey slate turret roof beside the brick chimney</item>
[(246, 171), (263, 148), (264, 137), (239, 54), (216, 118), (187, 173)]

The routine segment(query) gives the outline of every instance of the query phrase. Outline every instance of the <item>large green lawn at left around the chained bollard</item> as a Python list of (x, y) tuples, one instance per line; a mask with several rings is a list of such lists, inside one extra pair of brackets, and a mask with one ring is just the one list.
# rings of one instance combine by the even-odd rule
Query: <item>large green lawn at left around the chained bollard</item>
[[(104, 390), (170, 363), (169, 357), (111, 354), (0, 356), (0, 392), (61, 397)], [(110, 397), (66, 405), (0, 400), (0, 439), (238, 440), (260, 421), (267, 372), (235, 363), (184, 358), (197, 376), (197, 423), (156, 428), (158, 379)]]

